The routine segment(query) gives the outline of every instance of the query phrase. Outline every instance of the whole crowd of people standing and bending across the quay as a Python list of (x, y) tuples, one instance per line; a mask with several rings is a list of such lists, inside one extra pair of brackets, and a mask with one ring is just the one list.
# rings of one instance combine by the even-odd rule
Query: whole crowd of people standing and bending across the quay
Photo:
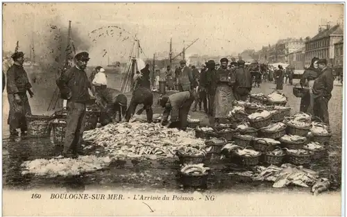
[[(10, 113), (8, 124), (10, 135), (17, 136), (17, 129), (26, 134), (28, 126), (26, 115), (31, 114), (28, 103), (28, 94), (33, 97), (31, 83), (24, 70), (24, 53), (16, 52), (12, 55), (13, 64), (6, 73), (6, 89)], [(143, 107), (137, 111), (142, 114), (146, 110), (147, 121), (153, 121), (153, 92), (151, 91), (149, 64), (144, 69), (137, 71), (133, 76), (133, 95), (128, 105), (128, 100), (119, 90), (108, 87), (107, 76), (103, 67), (96, 67), (88, 78), (85, 69), (90, 60), (89, 53), (77, 53), (74, 57), (75, 65), (66, 69), (57, 80), (60, 89), (60, 97), (66, 101), (67, 128), (63, 155), (81, 155), (81, 143), (86, 121), (86, 108), (90, 98), (94, 97), (97, 105), (101, 108), (99, 123), (117, 123), (130, 121), (135, 114), (137, 105)], [(258, 64), (258, 67), (261, 67)], [(266, 69), (268, 69), (266, 67)], [(260, 73), (260, 77), (254, 71)], [(289, 70), (287, 70), (288, 73)], [(262, 73), (266, 72), (266, 73)], [(201, 71), (196, 67), (188, 67), (185, 60), (180, 61), (180, 67), (176, 67), (172, 73), (167, 67), (167, 87), (178, 92), (170, 96), (160, 96), (158, 105), (163, 108), (162, 125), (169, 128), (185, 130), (187, 128), (187, 116), (194, 101), (193, 110), (202, 110), (212, 117), (212, 124), (225, 123), (226, 116), (232, 110), (233, 101), (246, 101), (253, 88), (253, 82), (259, 85), (264, 74), (271, 74), (269, 70), (246, 67), (244, 60), (232, 60), (222, 58), (220, 64), (209, 60), (203, 64)], [(282, 89), (285, 70), (278, 66), (273, 73), (276, 89)], [(3, 73), (3, 81), (4, 81)], [(270, 80), (270, 76), (269, 76)], [(312, 59), (310, 68), (305, 70), (300, 84), (309, 87), (301, 98), (301, 112), (307, 112), (319, 117), (321, 121), (329, 125), (328, 102), (332, 97), (334, 76), (332, 69), (327, 66), (327, 60)], [(289, 76), (289, 83), (292, 78)], [(3, 89), (5, 83), (3, 83)], [(22, 136), (21, 134), (21, 136)]]

